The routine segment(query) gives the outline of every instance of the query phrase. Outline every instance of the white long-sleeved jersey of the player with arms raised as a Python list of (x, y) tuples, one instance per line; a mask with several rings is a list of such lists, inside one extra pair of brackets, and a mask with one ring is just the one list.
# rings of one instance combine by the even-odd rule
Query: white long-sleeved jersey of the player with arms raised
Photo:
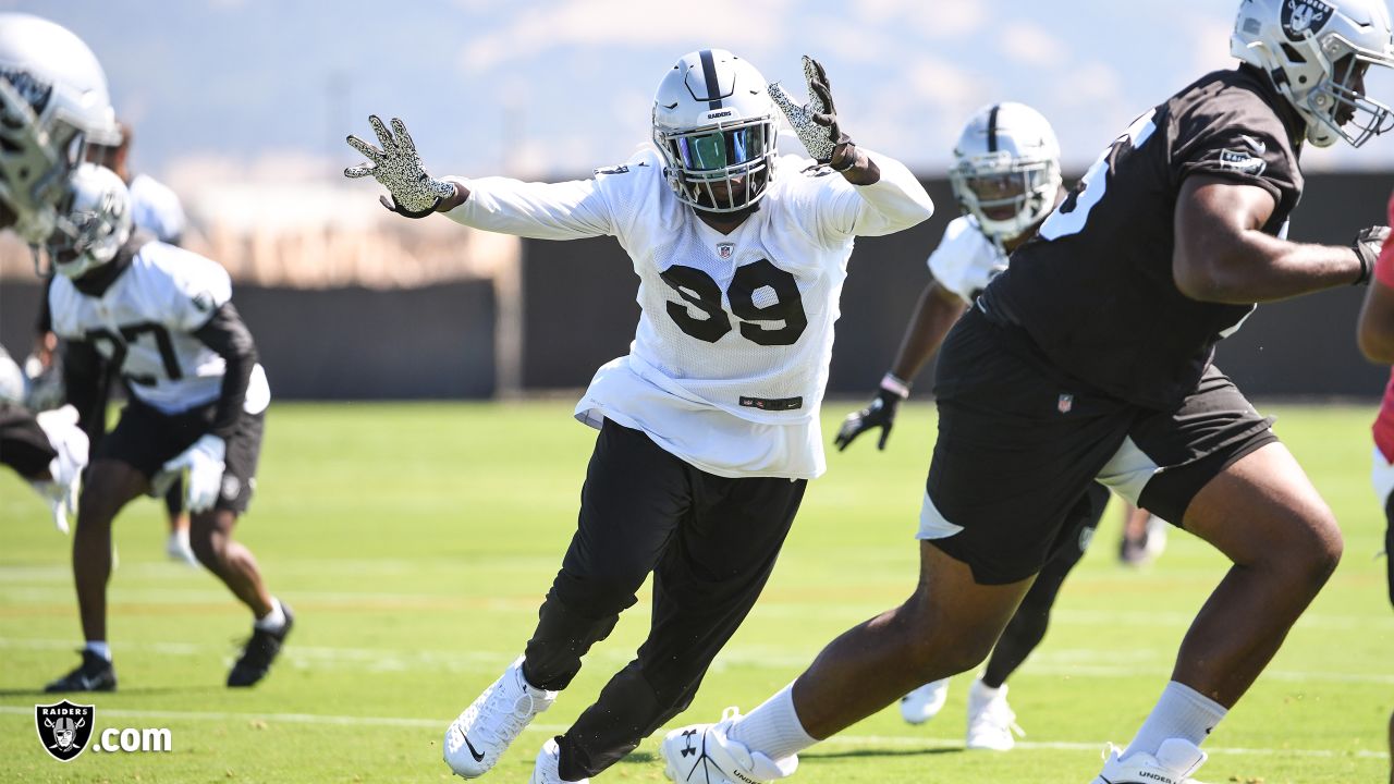
[(824, 470), (818, 407), (853, 236), (928, 218), (919, 181), (877, 158), (855, 187), (785, 156), (764, 198), (729, 234), (680, 202), (652, 148), (584, 181), (466, 180), (449, 216), (526, 237), (613, 236), (638, 275), (630, 353), (599, 368), (576, 410), (645, 431), (717, 476), (811, 478)]

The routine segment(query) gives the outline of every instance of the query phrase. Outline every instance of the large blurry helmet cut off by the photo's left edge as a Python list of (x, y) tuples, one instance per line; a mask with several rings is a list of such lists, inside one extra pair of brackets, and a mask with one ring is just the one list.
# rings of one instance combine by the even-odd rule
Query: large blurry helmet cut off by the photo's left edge
[(96, 56), (67, 28), (0, 14), (0, 227), (29, 244), (56, 226), (63, 179), (85, 146), (121, 133)]

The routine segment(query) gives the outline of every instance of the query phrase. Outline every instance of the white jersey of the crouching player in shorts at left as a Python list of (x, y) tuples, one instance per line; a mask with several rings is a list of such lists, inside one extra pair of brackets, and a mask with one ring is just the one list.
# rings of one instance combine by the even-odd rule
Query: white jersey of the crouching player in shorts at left
[[(131, 395), (158, 412), (177, 414), (216, 400), (222, 391), (226, 363), (194, 332), (231, 296), (231, 280), (217, 262), (152, 240), (139, 246), (130, 266), (98, 296), (84, 294), (71, 279), (56, 275), (49, 307), (56, 335), (92, 343), (117, 368)], [(258, 365), (247, 405), (263, 407), (269, 396)]]

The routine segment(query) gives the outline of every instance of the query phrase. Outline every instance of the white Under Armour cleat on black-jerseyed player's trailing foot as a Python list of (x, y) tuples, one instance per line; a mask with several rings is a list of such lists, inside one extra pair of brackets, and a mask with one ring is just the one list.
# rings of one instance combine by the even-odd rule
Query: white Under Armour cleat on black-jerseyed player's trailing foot
[(679, 784), (764, 784), (799, 767), (799, 755), (769, 759), (728, 738), (736, 718), (740, 711), (728, 707), (717, 724), (690, 724), (664, 735), (664, 776)]

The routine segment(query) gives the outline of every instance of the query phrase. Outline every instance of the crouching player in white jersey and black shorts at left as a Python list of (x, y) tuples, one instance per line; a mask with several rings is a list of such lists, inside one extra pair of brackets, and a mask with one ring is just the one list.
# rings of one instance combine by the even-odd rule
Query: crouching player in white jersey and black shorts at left
[(84, 163), (68, 190), (46, 244), (57, 272), (49, 292), (53, 331), (68, 342), (68, 400), (85, 430), (102, 428), (100, 354), (120, 372), (128, 402), (93, 451), (78, 502), (72, 573), (86, 639), (82, 663), (47, 691), (116, 688), (106, 635), (112, 522), (141, 494), (163, 494), (183, 472), (194, 552), (255, 617), (227, 677), (229, 686), (250, 686), (266, 674), (293, 624), (252, 554), (233, 540), (255, 490), (270, 402), (256, 346), (231, 304), (227, 272), (134, 230), (130, 194), (114, 172)]

